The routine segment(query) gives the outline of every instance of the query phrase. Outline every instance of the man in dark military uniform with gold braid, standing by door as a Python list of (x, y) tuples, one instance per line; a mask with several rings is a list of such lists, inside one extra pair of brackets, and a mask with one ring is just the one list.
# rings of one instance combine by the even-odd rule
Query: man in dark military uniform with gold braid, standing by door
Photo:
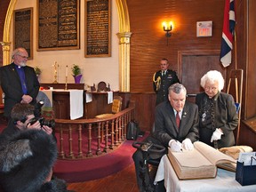
[(161, 70), (157, 71), (153, 76), (153, 88), (156, 92), (156, 105), (168, 100), (168, 88), (180, 80), (175, 71), (168, 69), (169, 62), (167, 59), (160, 60)]

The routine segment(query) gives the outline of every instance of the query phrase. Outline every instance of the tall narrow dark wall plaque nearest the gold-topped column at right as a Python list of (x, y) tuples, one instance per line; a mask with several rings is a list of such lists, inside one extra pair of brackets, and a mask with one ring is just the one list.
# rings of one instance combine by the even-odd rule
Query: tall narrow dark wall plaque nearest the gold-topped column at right
[(111, 0), (86, 1), (85, 57), (110, 57)]

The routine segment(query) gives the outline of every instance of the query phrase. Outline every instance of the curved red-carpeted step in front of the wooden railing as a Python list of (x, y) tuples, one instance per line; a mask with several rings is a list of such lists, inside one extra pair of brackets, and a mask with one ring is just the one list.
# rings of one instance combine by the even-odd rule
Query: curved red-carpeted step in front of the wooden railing
[[(138, 140), (144, 140), (147, 136), (148, 133)], [(135, 148), (132, 142), (134, 140), (126, 140), (119, 148), (104, 156), (76, 161), (58, 160), (53, 169), (54, 175), (67, 182), (80, 182), (97, 180), (119, 172), (133, 162)]]

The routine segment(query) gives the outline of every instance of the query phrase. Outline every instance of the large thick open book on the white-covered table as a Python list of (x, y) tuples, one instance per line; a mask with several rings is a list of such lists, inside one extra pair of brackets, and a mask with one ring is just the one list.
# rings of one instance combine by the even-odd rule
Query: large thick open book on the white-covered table
[(234, 158), (201, 141), (194, 142), (191, 151), (172, 152), (169, 148), (168, 158), (180, 180), (215, 178), (217, 166), (236, 172)]

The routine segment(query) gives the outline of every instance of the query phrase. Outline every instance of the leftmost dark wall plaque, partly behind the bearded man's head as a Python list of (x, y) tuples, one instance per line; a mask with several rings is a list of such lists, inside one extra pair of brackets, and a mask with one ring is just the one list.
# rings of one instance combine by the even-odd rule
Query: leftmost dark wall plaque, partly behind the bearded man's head
[(33, 8), (14, 11), (13, 49), (24, 47), (33, 59)]

